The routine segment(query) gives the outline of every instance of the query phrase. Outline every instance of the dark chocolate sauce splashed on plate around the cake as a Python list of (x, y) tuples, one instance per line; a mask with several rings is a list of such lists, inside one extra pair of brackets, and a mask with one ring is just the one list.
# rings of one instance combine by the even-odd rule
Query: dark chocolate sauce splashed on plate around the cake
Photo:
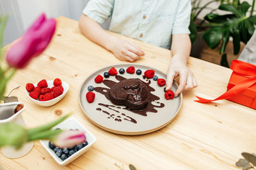
[[(118, 81), (122, 81), (122, 80), (127, 79), (127, 78), (124, 78), (123, 76), (118, 76), (118, 75), (116, 75), (115, 78), (116, 78), (116, 80), (118, 80)], [(144, 76), (143, 76), (143, 79), (145, 79)], [(110, 88), (113, 87), (113, 85), (115, 85), (117, 82), (111, 81), (111, 80), (103, 80), (103, 83), (104, 83), (104, 85), (106, 85), (107, 87), (109, 87), (109, 89), (106, 88), (106, 87), (95, 87), (94, 90), (95, 90), (95, 92), (99, 92), (100, 94), (103, 94), (103, 95), (110, 101), (109, 90), (110, 90)], [(145, 82), (143, 81), (143, 83), (145, 83)], [(124, 109), (124, 110), (129, 110), (129, 111), (131, 111), (131, 112), (133, 112), (133, 113), (137, 113), (137, 114), (139, 114), (139, 115), (142, 115), (142, 116), (146, 117), (146, 116), (147, 116), (147, 112), (150, 111), (150, 112), (153, 112), (153, 113), (157, 113), (157, 110), (156, 110), (155, 108), (163, 108), (163, 107), (164, 107), (164, 104), (163, 104), (163, 103), (160, 103), (160, 106), (156, 106), (156, 105), (152, 104), (153, 101), (158, 101), (160, 98), (151, 93), (151, 92), (154, 92), (155, 89), (152, 88), (152, 87), (150, 87), (150, 83), (151, 83), (150, 80), (148, 80), (148, 82), (145, 83), (145, 85), (146, 85), (147, 88), (148, 88), (148, 92), (149, 92), (148, 95), (149, 95), (149, 98), (150, 98), (150, 101), (148, 102), (148, 106), (147, 106), (145, 109), (143, 109), (143, 110), (130, 110), (130, 109), (127, 108), (127, 107), (126, 107), (126, 108), (123, 108), (123, 109)], [(102, 103), (99, 103), (99, 105), (100, 105), (100, 106), (107, 106), (108, 108), (109, 108), (109, 106), (110, 106), (110, 107), (113, 107), (113, 105), (102, 104)], [(117, 107), (115, 106), (115, 108), (117, 108)], [(118, 108), (120, 108), (120, 107), (118, 107)], [(109, 109), (110, 109), (110, 108), (109, 108)], [(113, 109), (111, 108), (111, 110), (113, 110)], [(115, 111), (116, 111), (116, 110), (115, 110)], [(127, 117), (127, 116), (126, 116), (126, 117)], [(128, 118), (131, 118), (131, 117), (128, 117)], [(136, 120), (135, 120), (135, 121), (136, 121)]]

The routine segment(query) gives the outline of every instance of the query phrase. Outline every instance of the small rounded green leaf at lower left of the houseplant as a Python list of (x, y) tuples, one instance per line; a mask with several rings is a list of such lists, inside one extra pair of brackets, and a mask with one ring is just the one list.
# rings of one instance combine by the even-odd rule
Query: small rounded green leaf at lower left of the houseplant
[(223, 29), (221, 27), (211, 27), (202, 34), (202, 38), (212, 49), (216, 48), (220, 44), (222, 37)]

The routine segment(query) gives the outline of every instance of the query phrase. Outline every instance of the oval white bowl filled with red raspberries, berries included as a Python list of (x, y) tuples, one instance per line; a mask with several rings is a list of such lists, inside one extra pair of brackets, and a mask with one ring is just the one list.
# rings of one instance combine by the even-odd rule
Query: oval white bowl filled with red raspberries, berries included
[(61, 81), (60, 78), (44, 79), (37, 84), (27, 83), (26, 94), (31, 101), (40, 106), (52, 106), (65, 96), (68, 88), (68, 83)]

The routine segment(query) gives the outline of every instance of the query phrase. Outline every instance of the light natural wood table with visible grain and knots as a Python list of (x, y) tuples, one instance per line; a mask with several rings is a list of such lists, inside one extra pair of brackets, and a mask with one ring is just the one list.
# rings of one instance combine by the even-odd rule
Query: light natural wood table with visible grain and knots
[[(4, 169), (129, 169), (129, 164), (137, 169), (236, 169), (235, 163), (242, 152), (256, 152), (255, 110), (226, 100), (209, 104), (194, 101), (195, 95), (220, 96), (226, 90), (232, 71), (193, 57), (189, 58), (188, 66), (196, 76), (198, 87), (183, 93), (179, 115), (163, 129), (141, 136), (123, 136), (92, 124), (79, 106), (81, 83), (97, 69), (124, 62), (85, 38), (77, 21), (65, 17), (57, 20), (58, 28), (49, 48), (26, 69), (17, 71), (7, 92), (21, 85), (12, 95), (26, 104), (23, 118), (28, 127), (55, 120), (59, 116), (54, 110), (62, 110), (63, 115), (73, 111), (72, 117), (95, 134), (97, 142), (74, 162), (61, 167), (36, 141), (33, 150), (20, 159), (6, 159), (0, 153), (0, 165)], [(170, 50), (129, 40), (145, 52), (145, 57), (136, 63), (157, 67), (166, 73)], [(60, 103), (42, 107), (28, 99), (26, 83), (57, 77), (70, 85)]]

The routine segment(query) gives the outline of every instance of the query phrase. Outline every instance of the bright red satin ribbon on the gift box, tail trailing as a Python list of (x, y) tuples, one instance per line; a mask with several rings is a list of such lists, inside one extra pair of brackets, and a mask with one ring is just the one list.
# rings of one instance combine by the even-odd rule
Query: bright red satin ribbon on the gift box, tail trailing
[(256, 66), (253, 64), (249, 64), (247, 62), (243, 62), (241, 60), (233, 60), (232, 64), (230, 66), (230, 69), (233, 70), (234, 74), (245, 76), (248, 79), (242, 81), (241, 83), (235, 85), (231, 89), (229, 89), (225, 94), (221, 95), (220, 97), (217, 97), (216, 99), (209, 100), (204, 99), (202, 97), (196, 96), (199, 100), (196, 101), (198, 103), (209, 103), (211, 101), (218, 101), (222, 99), (228, 99), (230, 97), (236, 96), (237, 94), (241, 94), (246, 89), (251, 87), (256, 83)]

